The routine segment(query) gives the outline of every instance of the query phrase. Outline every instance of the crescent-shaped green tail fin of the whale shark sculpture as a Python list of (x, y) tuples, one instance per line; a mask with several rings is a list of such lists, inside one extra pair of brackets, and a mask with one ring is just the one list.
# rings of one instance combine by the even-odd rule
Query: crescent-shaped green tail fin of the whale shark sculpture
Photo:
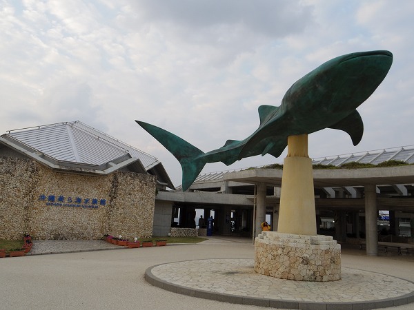
[(193, 184), (207, 163), (204, 152), (179, 136), (167, 132), (160, 127), (141, 121), (136, 122), (177, 158), (183, 170), (182, 188), (183, 192), (185, 192)]

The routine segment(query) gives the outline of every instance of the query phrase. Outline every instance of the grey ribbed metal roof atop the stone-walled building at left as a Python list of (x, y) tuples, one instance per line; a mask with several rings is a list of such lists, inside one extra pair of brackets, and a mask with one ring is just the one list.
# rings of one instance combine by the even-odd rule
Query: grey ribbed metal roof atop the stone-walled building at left
[(9, 130), (0, 142), (52, 169), (108, 174), (128, 166), (155, 171), (159, 182), (174, 188), (157, 158), (80, 121)]

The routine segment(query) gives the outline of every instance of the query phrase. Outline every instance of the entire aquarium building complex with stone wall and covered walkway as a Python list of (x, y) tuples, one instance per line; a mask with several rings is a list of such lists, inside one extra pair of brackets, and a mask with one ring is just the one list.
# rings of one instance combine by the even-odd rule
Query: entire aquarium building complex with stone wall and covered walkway
[[(402, 147), (314, 163), (412, 164), (413, 154)], [(388, 234), (410, 236), (403, 229), (414, 218), (414, 165), (313, 174), (318, 234), (357, 243), (367, 236), (367, 253), (375, 255), (378, 210), (386, 210)], [(185, 193), (166, 191), (175, 188), (157, 158), (80, 122), (13, 130), (0, 136), (0, 238), (141, 238), (172, 236), (176, 228), (188, 234), (196, 231), (196, 209), (204, 218), (214, 211), (213, 234), (251, 237), (266, 216), (277, 231), (281, 183), (281, 169), (247, 169), (200, 175)]]

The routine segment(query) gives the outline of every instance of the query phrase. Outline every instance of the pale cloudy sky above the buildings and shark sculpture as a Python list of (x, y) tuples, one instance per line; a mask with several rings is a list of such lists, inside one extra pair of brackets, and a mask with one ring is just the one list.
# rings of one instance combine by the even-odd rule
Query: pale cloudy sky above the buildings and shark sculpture
[(359, 145), (326, 129), (309, 135), (308, 153), (414, 145), (413, 16), (408, 0), (0, 0), (0, 134), (81, 121), (157, 157), (177, 186), (178, 161), (135, 120), (208, 152), (253, 133), (259, 105), (280, 105), (325, 61), (389, 50), (391, 70), (357, 109)]

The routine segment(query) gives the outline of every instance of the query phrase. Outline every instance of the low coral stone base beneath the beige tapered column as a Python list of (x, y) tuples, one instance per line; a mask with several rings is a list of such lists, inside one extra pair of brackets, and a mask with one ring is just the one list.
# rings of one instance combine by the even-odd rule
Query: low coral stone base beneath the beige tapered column
[(262, 231), (255, 240), (255, 271), (288, 280), (336, 281), (341, 278), (341, 245), (331, 236)]

